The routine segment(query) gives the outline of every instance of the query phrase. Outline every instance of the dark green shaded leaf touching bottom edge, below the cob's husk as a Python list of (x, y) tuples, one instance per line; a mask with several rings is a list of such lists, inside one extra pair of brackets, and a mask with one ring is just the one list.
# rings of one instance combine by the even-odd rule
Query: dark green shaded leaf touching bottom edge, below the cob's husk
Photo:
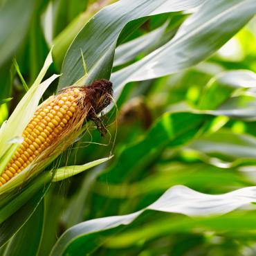
[[(35, 212), (24, 226), (10, 240), (5, 256), (35, 256), (43, 232), (44, 223), (44, 201), (42, 200), (37, 206)], [(29, 242), (28, 242), (29, 241)]]

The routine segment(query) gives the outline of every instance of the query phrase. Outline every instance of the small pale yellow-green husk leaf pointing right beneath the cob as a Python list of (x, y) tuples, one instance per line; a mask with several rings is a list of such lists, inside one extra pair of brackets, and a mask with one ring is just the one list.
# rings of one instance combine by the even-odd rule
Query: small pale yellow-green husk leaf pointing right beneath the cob
[(56, 182), (56, 181), (62, 181), (64, 179), (68, 179), (73, 175), (80, 174), (80, 172), (84, 172), (89, 168), (95, 167), (97, 165), (100, 165), (101, 163), (109, 161), (109, 159), (111, 159), (112, 157), (113, 156), (109, 156), (106, 158), (98, 159), (90, 163), (86, 163), (85, 165), (66, 166), (66, 167), (52, 170), (51, 171), (51, 174), (53, 175), (52, 181)]

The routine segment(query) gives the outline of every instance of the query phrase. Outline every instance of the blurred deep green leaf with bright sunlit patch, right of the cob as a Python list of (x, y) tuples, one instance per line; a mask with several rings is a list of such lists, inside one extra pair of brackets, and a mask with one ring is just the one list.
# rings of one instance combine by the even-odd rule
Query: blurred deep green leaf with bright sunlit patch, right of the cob
[(118, 183), (147, 167), (167, 145), (183, 145), (200, 132), (210, 117), (194, 113), (165, 113), (143, 140), (125, 147), (107, 172), (109, 183)]

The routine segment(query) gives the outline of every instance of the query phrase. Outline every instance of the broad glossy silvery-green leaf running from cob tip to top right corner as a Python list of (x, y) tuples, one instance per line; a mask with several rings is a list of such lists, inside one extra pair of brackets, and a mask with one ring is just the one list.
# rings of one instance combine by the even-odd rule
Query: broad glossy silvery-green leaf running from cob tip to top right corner
[(181, 25), (170, 42), (111, 75), (116, 93), (128, 82), (170, 75), (205, 60), (253, 18), (255, 12), (254, 0), (206, 1)]

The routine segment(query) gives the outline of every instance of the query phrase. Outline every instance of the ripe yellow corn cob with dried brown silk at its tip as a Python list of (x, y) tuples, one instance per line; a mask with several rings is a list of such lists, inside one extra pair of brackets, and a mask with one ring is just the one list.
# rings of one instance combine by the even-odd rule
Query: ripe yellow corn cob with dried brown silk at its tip
[(111, 102), (111, 95), (111, 82), (97, 80), (89, 86), (64, 89), (41, 104), (24, 129), (23, 143), (1, 174), (0, 186), (42, 154), (46, 158), (85, 119), (97, 120), (97, 114)]

